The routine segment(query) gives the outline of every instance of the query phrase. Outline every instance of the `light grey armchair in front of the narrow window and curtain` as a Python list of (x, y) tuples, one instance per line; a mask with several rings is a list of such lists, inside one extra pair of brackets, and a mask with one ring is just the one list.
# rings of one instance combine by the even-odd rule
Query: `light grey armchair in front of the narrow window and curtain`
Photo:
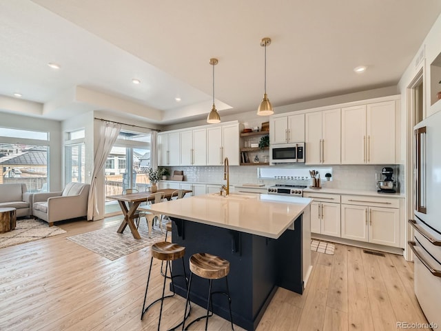
[(87, 217), (89, 184), (68, 183), (61, 192), (35, 193), (32, 214), (54, 225), (64, 219)]

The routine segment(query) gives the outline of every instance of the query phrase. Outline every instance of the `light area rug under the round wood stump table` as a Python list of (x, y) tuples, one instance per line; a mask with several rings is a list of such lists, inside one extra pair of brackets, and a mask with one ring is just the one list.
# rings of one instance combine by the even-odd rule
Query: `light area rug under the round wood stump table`
[(65, 230), (57, 226), (49, 226), (47, 222), (39, 219), (17, 219), (14, 230), (0, 234), (0, 248), (28, 243), (62, 233), (66, 233)]

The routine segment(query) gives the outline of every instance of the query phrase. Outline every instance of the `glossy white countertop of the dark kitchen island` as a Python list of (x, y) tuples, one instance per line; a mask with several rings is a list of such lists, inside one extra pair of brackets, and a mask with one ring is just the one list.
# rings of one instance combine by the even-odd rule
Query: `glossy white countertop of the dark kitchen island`
[(311, 201), (269, 194), (204, 194), (154, 203), (150, 209), (170, 217), (277, 239)]

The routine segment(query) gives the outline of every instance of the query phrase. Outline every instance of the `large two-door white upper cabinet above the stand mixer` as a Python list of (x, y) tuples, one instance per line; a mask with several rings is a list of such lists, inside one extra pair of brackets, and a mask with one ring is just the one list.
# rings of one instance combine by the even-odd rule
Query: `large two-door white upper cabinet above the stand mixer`
[(395, 101), (342, 108), (342, 163), (395, 163)]

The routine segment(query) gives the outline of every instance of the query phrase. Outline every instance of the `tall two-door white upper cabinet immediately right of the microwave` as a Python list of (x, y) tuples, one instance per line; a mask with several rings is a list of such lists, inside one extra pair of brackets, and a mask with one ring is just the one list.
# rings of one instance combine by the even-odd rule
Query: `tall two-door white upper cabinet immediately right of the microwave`
[(305, 163), (340, 164), (340, 108), (305, 117)]

